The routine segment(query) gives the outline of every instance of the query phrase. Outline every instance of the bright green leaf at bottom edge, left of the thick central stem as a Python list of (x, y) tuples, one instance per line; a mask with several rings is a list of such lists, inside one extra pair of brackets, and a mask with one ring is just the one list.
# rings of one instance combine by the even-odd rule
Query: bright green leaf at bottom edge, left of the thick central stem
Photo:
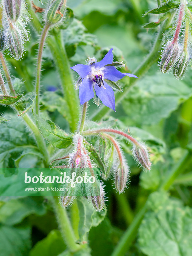
[(66, 245), (63, 242), (61, 232), (52, 230), (46, 238), (36, 243), (29, 256), (57, 256), (65, 250)]

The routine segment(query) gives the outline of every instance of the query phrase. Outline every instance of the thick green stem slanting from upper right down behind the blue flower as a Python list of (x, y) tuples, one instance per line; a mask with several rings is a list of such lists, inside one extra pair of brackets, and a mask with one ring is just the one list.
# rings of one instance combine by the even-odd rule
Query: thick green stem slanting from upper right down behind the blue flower
[[(151, 66), (157, 61), (159, 52), (161, 51), (161, 44), (162, 44), (162, 39), (163, 39), (163, 34), (165, 31), (165, 28), (167, 27), (167, 22), (165, 21), (163, 26), (160, 27), (160, 30), (158, 32), (158, 35), (156, 37), (154, 46), (152, 48), (152, 51), (150, 54), (147, 56), (145, 61), (141, 64), (140, 67), (138, 67), (133, 73), (138, 77), (136, 78), (130, 78), (130, 84), (129, 87), (125, 87), (124, 93), (116, 93), (115, 94), (115, 102), (116, 105), (126, 97), (126, 95), (130, 92), (130, 90), (133, 88), (134, 84), (138, 82), (138, 79), (141, 79), (143, 75), (151, 68)], [(100, 108), (100, 110), (96, 113), (96, 115), (93, 116), (93, 121), (98, 121), (103, 118), (106, 114), (108, 114), (111, 111), (110, 108), (104, 106)]]

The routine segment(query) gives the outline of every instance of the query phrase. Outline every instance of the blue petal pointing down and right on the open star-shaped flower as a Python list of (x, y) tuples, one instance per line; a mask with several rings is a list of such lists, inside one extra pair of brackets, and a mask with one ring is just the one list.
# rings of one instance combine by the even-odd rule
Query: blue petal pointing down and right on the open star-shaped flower
[(94, 83), (95, 92), (105, 106), (115, 111), (114, 91), (105, 81), (103, 82), (106, 89), (104, 90), (103, 86), (100, 88), (97, 83)]

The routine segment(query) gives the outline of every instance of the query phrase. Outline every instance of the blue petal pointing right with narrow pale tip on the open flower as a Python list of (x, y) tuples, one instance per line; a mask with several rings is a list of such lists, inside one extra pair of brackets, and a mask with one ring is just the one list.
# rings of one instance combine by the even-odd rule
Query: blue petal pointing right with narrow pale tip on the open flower
[(104, 67), (102, 72), (104, 74), (104, 77), (103, 77), (104, 79), (108, 79), (108, 80), (113, 81), (113, 82), (117, 82), (125, 76), (136, 77), (133, 74), (121, 73), (119, 70), (117, 70), (113, 66)]

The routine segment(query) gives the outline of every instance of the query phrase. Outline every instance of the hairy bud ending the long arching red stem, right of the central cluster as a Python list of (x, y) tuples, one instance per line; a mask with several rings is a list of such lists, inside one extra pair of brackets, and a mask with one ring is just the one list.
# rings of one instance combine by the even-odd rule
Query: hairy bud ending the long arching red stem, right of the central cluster
[(145, 146), (137, 144), (133, 146), (133, 156), (136, 161), (145, 169), (151, 169), (151, 162), (149, 161), (148, 151)]

